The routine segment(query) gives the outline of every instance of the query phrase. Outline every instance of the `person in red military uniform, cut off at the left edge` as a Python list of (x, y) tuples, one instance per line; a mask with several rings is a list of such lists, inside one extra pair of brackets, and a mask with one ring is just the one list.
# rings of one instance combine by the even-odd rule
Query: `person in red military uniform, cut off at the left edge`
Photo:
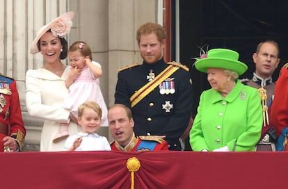
[(0, 74), (0, 151), (20, 151), (25, 134), (16, 82)]

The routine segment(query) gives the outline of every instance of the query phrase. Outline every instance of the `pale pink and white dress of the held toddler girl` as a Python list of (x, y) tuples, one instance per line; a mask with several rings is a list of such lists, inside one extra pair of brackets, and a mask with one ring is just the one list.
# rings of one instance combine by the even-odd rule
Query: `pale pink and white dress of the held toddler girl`
[[(99, 63), (92, 61), (93, 65), (101, 67)], [(74, 117), (78, 117), (78, 106), (85, 101), (95, 101), (102, 108), (101, 126), (108, 126), (107, 106), (105, 104), (99, 78), (95, 78), (89, 67), (84, 67), (79, 76), (70, 85), (69, 94), (65, 98), (63, 108), (70, 110)]]

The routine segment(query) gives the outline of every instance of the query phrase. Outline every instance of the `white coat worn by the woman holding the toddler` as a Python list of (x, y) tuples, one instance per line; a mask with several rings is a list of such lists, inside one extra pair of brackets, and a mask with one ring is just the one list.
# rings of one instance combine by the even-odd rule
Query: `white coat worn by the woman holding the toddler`
[(45, 120), (41, 139), (40, 151), (62, 151), (65, 140), (54, 143), (53, 138), (58, 133), (59, 124), (69, 123), (69, 134), (81, 131), (81, 127), (70, 122), (70, 111), (62, 108), (67, 97), (65, 86), (70, 69), (66, 67), (61, 78), (47, 69), (30, 69), (26, 72), (26, 106), (29, 115)]

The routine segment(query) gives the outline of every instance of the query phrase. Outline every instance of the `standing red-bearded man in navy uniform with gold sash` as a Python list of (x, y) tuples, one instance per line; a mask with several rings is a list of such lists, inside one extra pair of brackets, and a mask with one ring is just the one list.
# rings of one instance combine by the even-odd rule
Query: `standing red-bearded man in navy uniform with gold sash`
[(165, 38), (166, 31), (159, 24), (138, 28), (143, 64), (120, 69), (115, 104), (131, 108), (136, 135), (165, 138), (170, 150), (181, 150), (179, 138), (191, 117), (192, 81), (188, 67), (164, 62)]

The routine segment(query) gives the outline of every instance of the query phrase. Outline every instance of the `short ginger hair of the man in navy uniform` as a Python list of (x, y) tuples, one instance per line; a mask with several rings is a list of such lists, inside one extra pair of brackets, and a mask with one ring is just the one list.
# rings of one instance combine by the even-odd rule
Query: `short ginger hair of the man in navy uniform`
[(166, 31), (163, 26), (157, 23), (147, 22), (146, 24), (141, 25), (137, 30), (136, 40), (138, 44), (140, 42), (141, 35), (147, 35), (150, 33), (155, 33), (159, 42), (162, 42), (162, 40), (166, 38)]

